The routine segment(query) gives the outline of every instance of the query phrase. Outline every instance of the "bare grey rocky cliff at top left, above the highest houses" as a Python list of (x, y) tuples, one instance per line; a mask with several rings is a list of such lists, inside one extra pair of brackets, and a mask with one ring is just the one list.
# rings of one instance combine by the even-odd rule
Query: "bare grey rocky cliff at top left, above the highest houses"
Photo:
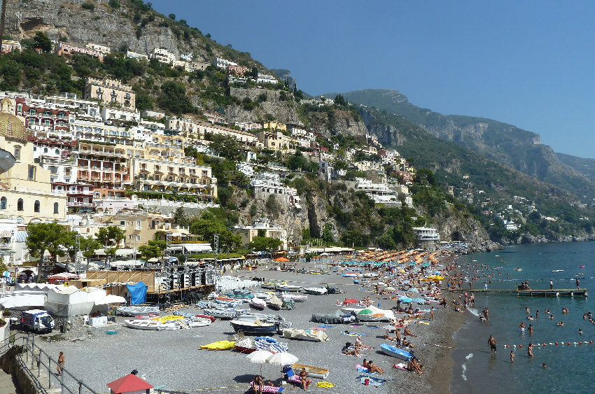
[(126, 46), (134, 52), (148, 55), (153, 48), (166, 48), (176, 57), (193, 52), (195, 60), (211, 61), (215, 57), (241, 59), (246, 65), (256, 65), (246, 52), (224, 47), (194, 29), (176, 24), (155, 10), (132, 8), (126, 0), (113, 8), (108, 0), (94, 0), (95, 7), (82, 7), (87, 0), (12, 0), (6, 3), (6, 34), (15, 39), (31, 38), (43, 31), (50, 38), (75, 45), (96, 43), (116, 50)]

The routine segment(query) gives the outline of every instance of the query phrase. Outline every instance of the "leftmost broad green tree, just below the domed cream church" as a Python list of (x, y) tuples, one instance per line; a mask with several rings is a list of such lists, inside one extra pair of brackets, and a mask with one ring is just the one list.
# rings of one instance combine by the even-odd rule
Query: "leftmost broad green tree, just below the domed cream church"
[(57, 223), (29, 223), (27, 225), (27, 248), (31, 255), (39, 258), (37, 265), (38, 278), (41, 278), (43, 255), (49, 251), (54, 256), (63, 256), (65, 253), (60, 248), (66, 229)]

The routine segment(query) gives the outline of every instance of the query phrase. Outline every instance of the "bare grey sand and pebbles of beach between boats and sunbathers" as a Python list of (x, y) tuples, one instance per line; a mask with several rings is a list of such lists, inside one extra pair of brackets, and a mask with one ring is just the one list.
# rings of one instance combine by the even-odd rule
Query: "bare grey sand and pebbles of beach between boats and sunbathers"
[[(229, 274), (229, 273), (228, 273)], [(370, 296), (375, 305), (380, 303), (382, 309), (395, 306), (394, 300), (380, 295), (377, 299), (373, 288), (361, 288), (353, 283), (352, 278), (338, 274), (296, 274), (292, 272), (269, 271), (264, 267), (253, 271), (233, 272), (242, 279), (253, 276), (271, 280), (283, 280), (300, 286), (323, 286), (330, 284), (344, 290), (339, 295), (308, 295), (307, 302), (297, 302), (293, 311), (273, 311), (265, 309), (264, 313), (280, 314), (293, 323), (293, 328), (316, 328), (318, 323), (310, 321), (313, 313), (333, 313), (339, 307), (337, 300), (353, 297), (357, 300)], [(244, 304), (245, 306), (247, 304)], [(433, 304), (436, 307), (437, 304)], [(415, 307), (415, 304), (414, 304)], [(427, 306), (426, 306), (427, 308)], [(200, 313), (200, 309), (186, 308), (183, 311)], [(429, 314), (428, 314), (429, 315)], [(429, 316), (427, 316), (429, 319)], [(65, 367), (79, 379), (83, 379), (96, 391), (106, 391), (106, 383), (118, 379), (132, 370), (139, 371), (153, 386), (162, 386), (169, 391), (204, 391), (221, 393), (244, 393), (249, 382), (260, 372), (260, 365), (252, 364), (246, 355), (231, 351), (206, 351), (199, 346), (226, 339), (234, 331), (229, 321), (215, 321), (208, 327), (174, 331), (144, 331), (123, 326), (123, 317), (118, 316), (115, 324), (102, 328), (78, 328), (68, 335), (44, 336), (38, 344), (50, 354), (63, 351), (66, 357)], [(384, 386), (374, 388), (374, 392), (391, 392), (399, 390), (405, 393), (449, 393), (451, 381), (451, 346), (454, 346), (453, 333), (464, 321), (464, 315), (454, 309), (435, 311), (435, 318), (430, 325), (411, 324), (412, 333), (417, 337), (411, 339), (415, 354), (425, 365), (425, 373), (417, 375), (413, 372), (396, 370), (392, 367), (401, 360), (386, 356), (379, 351), (385, 330), (382, 322), (361, 322), (360, 326), (349, 324), (333, 325), (325, 330), (330, 339), (327, 342), (297, 341), (282, 339), (287, 342), (289, 352), (297, 356), (299, 363), (324, 367), (330, 370), (327, 381), (335, 384), (335, 388), (316, 388), (313, 379), (311, 391), (335, 393), (359, 393), (372, 390), (372, 386), (363, 386), (356, 378), (360, 376), (356, 365), (363, 358), (373, 360), (383, 368), (386, 374), (378, 375), (386, 379)], [(117, 330), (117, 335), (107, 335), (107, 330)], [(363, 358), (345, 356), (341, 353), (345, 342), (355, 342), (356, 337), (342, 335), (342, 332), (361, 332), (363, 343), (373, 349), (363, 351)], [(66, 339), (63, 339), (63, 338)], [(281, 381), (279, 366), (262, 365), (265, 379)], [(289, 389), (290, 386), (286, 386)], [(300, 390), (300, 388), (296, 388)]]

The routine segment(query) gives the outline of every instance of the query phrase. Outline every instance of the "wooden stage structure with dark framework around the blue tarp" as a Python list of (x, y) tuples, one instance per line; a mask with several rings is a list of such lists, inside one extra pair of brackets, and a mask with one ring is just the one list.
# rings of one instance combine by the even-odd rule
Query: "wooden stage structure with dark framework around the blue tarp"
[[(127, 284), (143, 282), (147, 286), (147, 302), (163, 302), (169, 293), (172, 300), (181, 300), (188, 293), (211, 293), (215, 289), (211, 267), (198, 267), (176, 272), (163, 271), (87, 271), (87, 280), (101, 280), (108, 294), (125, 297)], [(169, 288), (169, 290), (168, 290)]]

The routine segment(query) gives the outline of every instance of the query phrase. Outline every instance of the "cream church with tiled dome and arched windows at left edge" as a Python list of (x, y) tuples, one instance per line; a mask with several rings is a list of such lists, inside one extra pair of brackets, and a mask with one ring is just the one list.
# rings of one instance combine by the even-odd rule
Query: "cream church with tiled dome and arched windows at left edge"
[[(6, 108), (6, 99), (0, 108)], [(13, 164), (14, 163), (14, 164)], [(66, 218), (66, 193), (52, 192), (50, 171), (34, 162), (22, 119), (0, 112), (0, 214), (28, 224)]]

